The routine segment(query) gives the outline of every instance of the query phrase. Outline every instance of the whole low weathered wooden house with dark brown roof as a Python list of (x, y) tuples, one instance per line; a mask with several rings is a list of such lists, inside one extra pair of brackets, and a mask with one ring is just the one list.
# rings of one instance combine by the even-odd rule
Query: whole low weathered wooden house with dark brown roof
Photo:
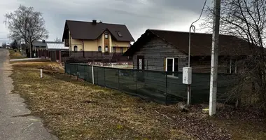
[[(133, 57), (134, 69), (182, 71), (188, 66), (188, 32), (147, 29), (124, 55)], [(190, 66), (194, 72), (211, 70), (212, 34), (192, 33)], [(220, 35), (219, 73), (237, 73), (240, 60), (251, 54), (249, 43), (235, 36)]]

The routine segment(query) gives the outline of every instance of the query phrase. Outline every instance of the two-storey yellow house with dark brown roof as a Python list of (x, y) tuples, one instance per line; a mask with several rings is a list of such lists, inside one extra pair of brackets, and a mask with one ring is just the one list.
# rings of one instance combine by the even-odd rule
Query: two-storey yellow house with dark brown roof
[(66, 20), (62, 37), (71, 52), (126, 52), (134, 38), (125, 25)]

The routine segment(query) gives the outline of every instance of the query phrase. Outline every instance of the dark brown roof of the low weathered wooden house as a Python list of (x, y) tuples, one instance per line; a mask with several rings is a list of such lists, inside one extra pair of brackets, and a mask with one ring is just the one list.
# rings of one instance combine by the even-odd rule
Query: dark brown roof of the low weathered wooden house
[[(130, 49), (125, 52), (125, 55), (133, 55), (135, 51), (141, 48), (141, 45), (151, 38), (151, 34), (162, 38), (162, 40), (167, 41), (167, 43), (175, 45), (176, 48), (188, 54), (188, 32), (147, 29), (146, 32), (142, 34), (141, 37), (130, 47)], [(192, 33), (190, 55), (210, 56), (211, 38), (212, 34)], [(248, 45), (248, 42), (235, 36), (220, 35), (218, 52), (221, 56), (250, 55), (251, 51)]]

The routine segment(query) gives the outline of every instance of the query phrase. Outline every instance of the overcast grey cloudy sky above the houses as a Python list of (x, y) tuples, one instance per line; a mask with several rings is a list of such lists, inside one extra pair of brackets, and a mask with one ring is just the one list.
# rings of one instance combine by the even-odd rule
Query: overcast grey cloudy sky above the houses
[[(204, 0), (8, 0), (0, 1), (0, 43), (10, 42), (3, 24), (5, 13), (18, 6), (33, 6), (43, 13), (49, 41), (62, 38), (65, 20), (92, 19), (125, 24), (137, 38), (146, 29), (188, 31), (191, 22), (200, 16)], [(211, 0), (208, 1), (208, 4)], [(196, 24), (196, 28), (200, 27)], [(199, 31), (199, 30), (197, 30)]]

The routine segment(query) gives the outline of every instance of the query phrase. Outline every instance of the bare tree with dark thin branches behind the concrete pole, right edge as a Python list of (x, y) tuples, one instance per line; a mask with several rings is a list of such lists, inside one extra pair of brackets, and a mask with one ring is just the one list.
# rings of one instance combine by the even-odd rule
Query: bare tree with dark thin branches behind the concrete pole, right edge
[[(207, 18), (202, 26), (211, 29), (214, 9), (208, 7), (205, 10)], [(237, 84), (230, 92), (230, 98), (237, 101), (252, 99), (250, 102), (266, 109), (266, 0), (222, 0), (220, 16), (221, 34), (237, 36), (248, 42), (247, 46), (235, 44), (248, 47), (246, 53), (249, 55), (238, 62), (241, 72), (237, 74)]]

